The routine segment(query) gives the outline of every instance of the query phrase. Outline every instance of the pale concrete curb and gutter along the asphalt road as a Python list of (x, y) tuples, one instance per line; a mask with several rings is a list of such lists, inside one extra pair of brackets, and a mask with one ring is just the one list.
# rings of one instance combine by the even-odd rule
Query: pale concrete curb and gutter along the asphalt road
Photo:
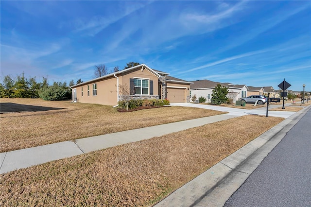
[(173, 191), (155, 204), (155, 207), (223, 207), (230, 196), (240, 188), (310, 107), (311, 105), (301, 109), (255, 138), (206, 172)]

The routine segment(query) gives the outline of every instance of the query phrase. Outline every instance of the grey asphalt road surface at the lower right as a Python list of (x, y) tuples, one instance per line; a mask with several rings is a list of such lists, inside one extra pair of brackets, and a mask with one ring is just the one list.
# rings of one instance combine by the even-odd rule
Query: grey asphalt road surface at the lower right
[(225, 207), (311, 207), (311, 109)]

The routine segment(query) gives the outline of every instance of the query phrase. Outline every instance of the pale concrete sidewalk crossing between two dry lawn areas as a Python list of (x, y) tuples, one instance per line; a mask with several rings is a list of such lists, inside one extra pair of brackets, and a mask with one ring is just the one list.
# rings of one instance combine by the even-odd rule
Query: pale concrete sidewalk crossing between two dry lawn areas
[[(240, 116), (242, 115), (244, 114), (241, 113)], [(7, 173), (21, 168), (46, 163), (52, 160), (81, 155), (143, 139), (160, 137), (173, 132), (217, 121), (223, 121), (234, 117), (237, 116), (230, 113), (222, 114), (5, 152), (0, 154), (0, 173)]]

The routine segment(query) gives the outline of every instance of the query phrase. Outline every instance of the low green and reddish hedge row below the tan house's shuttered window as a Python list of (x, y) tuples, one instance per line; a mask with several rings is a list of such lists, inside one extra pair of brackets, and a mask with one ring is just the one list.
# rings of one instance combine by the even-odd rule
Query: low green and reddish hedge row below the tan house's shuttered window
[(128, 110), (135, 109), (140, 106), (152, 107), (152, 106), (163, 106), (168, 104), (170, 104), (169, 100), (157, 100), (157, 99), (131, 99), (127, 101), (122, 100), (118, 102), (119, 108), (127, 108), (128, 105)]

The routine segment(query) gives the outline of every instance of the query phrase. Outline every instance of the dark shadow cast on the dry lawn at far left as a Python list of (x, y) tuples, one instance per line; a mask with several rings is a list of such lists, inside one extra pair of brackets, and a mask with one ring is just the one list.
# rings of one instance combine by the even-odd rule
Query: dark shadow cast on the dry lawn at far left
[(0, 103), (0, 114), (19, 113), (19, 112), (50, 111), (50, 110), (59, 110), (59, 109), (64, 109), (64, 108), (54, 108), (54, 107), (14, 104), (14, 103)]

